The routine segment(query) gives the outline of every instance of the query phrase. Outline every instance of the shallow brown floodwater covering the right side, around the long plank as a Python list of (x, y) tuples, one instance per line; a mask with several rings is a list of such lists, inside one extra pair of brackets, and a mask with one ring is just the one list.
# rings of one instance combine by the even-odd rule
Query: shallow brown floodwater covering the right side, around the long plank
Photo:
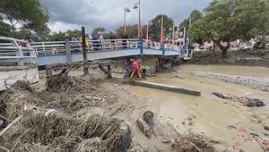
[[(172, 72), (158, 73), (157, 77), (147, 78), (147, 81), (199, 90), (202, 93), (201, 97), (136, 86), (130, 87), (130, 91), (154, 100), (159, 107), (157, 113), (161, 122), (169, 122), (179, 133), (204, 133), (221, 141), (216, 145), (220, 149), (262, 152), (260, 144), (269, 138), (269, 132), (264, 129), (264, 125), (269, 123), (269, 92), (221, 80), (196, 77), (193, 72), (269, 77), (269, 68), (266, 67), (180, 65), (174, 67)], [(262, 99), (266, 106), (243, 106), (213, 96), (212, 92)], [(253, 138), (252, 133), (259, 138)]]

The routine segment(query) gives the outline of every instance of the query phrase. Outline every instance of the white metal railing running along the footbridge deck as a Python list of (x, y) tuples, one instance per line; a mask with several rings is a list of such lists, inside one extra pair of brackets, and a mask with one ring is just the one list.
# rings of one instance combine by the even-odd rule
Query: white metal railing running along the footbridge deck
[[(12, 43), (0, 43), (0, 56), (8, 55), (10, 53), (22, 52), (35, 52), (37, 56), (46, 56), (46, 55), (66, 55), (66, 50), (71, 52), (71, 54), (82, 53), (82, 42), (78, 41), (69, 41), (68, 46), (65, 41), (48, 41), (48, 42), (32, 42), (29, 47), (22, 47), (19, 45), (19, 42), (25, 43), (25, 41), (14, 38), (4, 38), (0, 39), (9, 40)], [(14, 43), (16, 42), (16, 43)], [(14, 44), (17, 44), (14, 46)], [(120, 50), (120, 49), (133, 49), (140, 48), (140, 39), (139, 38), (128, 38), (128, 39), (102, 39), (102, 40), (87, 40), (86, 49), (87, 52), (96, 52), (96, 51), (109, 51), (109, 50)], [(176, 51), (182, 53), (182, 48), (172, 44), (162, 44), (160, 42), (154, 42), (143, 39), (143, 48), (145, 49), (154, 49), (160, 51)], [(5, 51), (2, 51), (5, 50)], [(17, 56), (17, 55), (16, 55)]]

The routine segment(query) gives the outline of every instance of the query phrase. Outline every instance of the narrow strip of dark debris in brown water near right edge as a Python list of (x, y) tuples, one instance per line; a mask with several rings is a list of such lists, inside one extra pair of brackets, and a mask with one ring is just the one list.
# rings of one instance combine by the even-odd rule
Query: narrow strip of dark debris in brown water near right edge
[(239, 103), (243, 104), (244, 106), (249, 106), (249, 107), (265, 106), (265, 102), (260, 100), (260, 99), (257, 99), (257, 98), (238, 97), (238, 96), (230, 95), (230, 94), (224, 95), (224, 94), (221, 94), (219, 92), (213, 92), (213, 95), (215, 95), (217, 97), (221, 97), (223, 99), (230, 99), (234, 102), (239, 102)]

